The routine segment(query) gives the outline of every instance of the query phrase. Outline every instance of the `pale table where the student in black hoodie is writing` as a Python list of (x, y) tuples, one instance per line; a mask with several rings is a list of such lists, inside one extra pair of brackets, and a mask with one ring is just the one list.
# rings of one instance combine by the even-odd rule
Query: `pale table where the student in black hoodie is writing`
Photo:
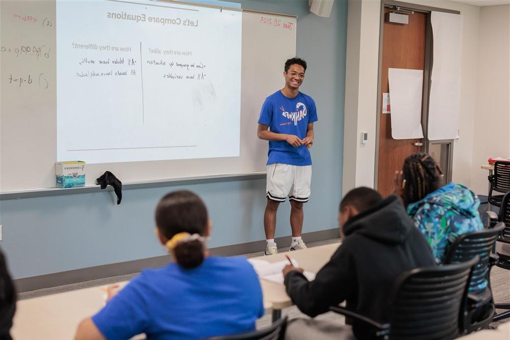
[[(312, 247), (303, 250), (297, 250), (292, 252), (283, 252), (270, 256), (258, 256), (252, 257), (256, 259), (265, 260), (268, 262), (278, 262), (287, 260), (285, 254), (295, 259), (299, 264), (299, 267), (306, 271), (317, 273), (321, 269), (333, 253), (338, 249), (340, 243), (332, 243), (324, 246)], [(272, 281), (264, 279), (260, 280), (262, 286), (262, 293), (264, 294), (264, 300), (272, 304), (273, 307), (273, 321), (277, 320), (282, 315), (282, 309), (292, 305), (290, 297), (285, 291), (285, 286)]]

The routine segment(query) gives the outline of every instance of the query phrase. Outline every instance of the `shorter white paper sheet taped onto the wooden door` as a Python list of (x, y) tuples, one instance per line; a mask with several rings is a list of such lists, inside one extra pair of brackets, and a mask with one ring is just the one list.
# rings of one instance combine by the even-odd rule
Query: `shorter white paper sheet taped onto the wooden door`
[(421, 103), (423, 70), (388, 69), (391, 98), (391, 137), (423, 138)]

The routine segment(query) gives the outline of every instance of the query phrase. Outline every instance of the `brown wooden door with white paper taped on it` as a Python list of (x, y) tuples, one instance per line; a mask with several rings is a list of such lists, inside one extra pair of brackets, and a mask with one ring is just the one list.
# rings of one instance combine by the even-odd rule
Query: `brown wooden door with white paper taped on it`
[[(395, 9), (385, 8), (386, 13)], [(388, 93), (388, 69), (406, 68), (424, 70), (425, 37), (427, 14), (409, 14), (408, 24), (384, 22), (382, 33), (381, 93)], [(424, 81), (428, 82), (426, 76)], [(425, 95), (425, 94), (424, 94)], [(377, 190), (382, 196), (393, 192), (393, 175), (400, 170), (404, 159), (413, 152), (420, 152), (422, 139), (393, 139), (391, 137), (391, 114), (382, 114), (382, 100), (379, 105), (379, 149), (377, 162)], [(391, 105), (391, 97), (390, 97)], [(423, 101), (422, 101), (423, 117)]]

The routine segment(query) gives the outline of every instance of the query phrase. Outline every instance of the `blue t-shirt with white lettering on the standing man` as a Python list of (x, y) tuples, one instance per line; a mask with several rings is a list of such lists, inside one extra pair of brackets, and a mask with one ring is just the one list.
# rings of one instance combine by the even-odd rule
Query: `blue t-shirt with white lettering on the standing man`
[[(287, 98), (278, 90), (266, 98), (260, 112), (259, 123), (269, 126), (277, 134), (307, 137), (309, 123), (317, 121), (317, 108), (312, 97), (298, 92)], [(292, 146), (286, 141), (269, 141), (267, 164), (312, 165), (310, 150), (305, 145)]]

